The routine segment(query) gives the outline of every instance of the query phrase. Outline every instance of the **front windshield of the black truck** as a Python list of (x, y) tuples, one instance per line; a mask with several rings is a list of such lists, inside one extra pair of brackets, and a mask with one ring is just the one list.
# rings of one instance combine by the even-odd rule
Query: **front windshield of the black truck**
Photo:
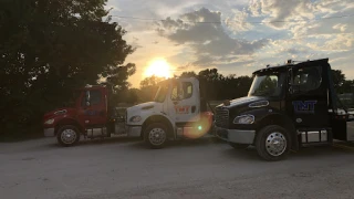
[(285, 72), (257, 74), (249, 96), (280, 96), (285, 85)]

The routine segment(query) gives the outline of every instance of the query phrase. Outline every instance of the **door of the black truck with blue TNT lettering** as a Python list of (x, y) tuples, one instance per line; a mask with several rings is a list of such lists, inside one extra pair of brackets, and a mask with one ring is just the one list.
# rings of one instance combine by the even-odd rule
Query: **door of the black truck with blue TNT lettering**
[(298, 128), (330, 126), (326, 70), (321, 65), (292, 69), (287, 112)]

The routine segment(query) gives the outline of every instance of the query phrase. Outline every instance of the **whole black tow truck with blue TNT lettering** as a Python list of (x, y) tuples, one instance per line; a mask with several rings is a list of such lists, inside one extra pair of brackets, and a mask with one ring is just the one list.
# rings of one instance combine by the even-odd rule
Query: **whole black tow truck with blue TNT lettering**
[(336, 95), (329, 59), (256, 71), (248, 96), (215, 111), (217, 137), (238, 149), (254, 146), (266, 160), (309, 145), (354, 140), (354, 113)]

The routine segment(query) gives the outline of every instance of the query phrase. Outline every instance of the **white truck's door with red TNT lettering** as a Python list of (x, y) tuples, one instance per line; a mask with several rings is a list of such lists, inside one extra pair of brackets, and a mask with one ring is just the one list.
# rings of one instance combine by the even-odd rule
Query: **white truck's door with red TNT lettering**
[(178, 123), (199, 121), (199, 84), (194, 78), (174, 81), (167, 97), (168, 115)]

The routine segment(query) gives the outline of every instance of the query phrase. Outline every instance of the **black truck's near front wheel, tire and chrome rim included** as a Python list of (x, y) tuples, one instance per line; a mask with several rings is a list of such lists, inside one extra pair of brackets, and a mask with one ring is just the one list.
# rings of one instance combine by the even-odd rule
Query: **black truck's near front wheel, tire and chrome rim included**
[(277, 125), (266, 126), (256, 137), (258, 155), (269, 161), (284, 159), (290, 150), (290, 145), (288, 130)]

